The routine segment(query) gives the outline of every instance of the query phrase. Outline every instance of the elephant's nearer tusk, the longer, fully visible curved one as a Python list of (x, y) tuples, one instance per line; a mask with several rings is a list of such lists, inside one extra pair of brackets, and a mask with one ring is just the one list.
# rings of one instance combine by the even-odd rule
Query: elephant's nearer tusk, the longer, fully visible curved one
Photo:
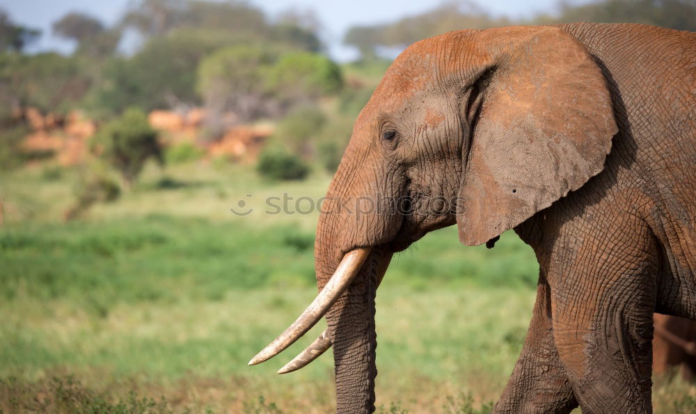
[(370, 251), (371, 247), (359, 247), (345, 254), (329, 283), (326, 283), (310, 306), (278, 338), (251, 358), (249, 365), (268, 361), (312, 329), (358, 275), (367, 256), (370, 256)]

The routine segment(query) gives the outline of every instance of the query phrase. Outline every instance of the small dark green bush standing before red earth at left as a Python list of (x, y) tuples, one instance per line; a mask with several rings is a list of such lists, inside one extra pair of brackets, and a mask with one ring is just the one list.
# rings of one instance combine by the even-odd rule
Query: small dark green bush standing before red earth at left
[(163, 162), (157, 131), (150, 128), (147, 115), (139, 108), (129, 108), (120, 117), (104, 125), (97, 133), (95, 146), (129, 186), (137, 179), (148, 159)]

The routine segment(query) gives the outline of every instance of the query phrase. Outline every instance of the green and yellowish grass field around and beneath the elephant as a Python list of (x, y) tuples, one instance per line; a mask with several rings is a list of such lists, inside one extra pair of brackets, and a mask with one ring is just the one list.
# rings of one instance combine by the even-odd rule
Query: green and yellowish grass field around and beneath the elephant
[[(78, 172), (0, 176), (0, 411), (331, 411), (331, 355), (275, 374), (323, 322), (246, 365), (316, 292), (317, 215), (267, 215), (263, 199), (316, 199), (329, 177), (268, 183), (249, 170), (152, 167), (67, 224)], [(232, 215), (239, 199), (254, 213)], [(377, 294), (380, 411), (487, 411), (521, 349), (537, 272), (514, 233), (488, 250), (443, 229), (396, 256)], [(661, 379), (654, 395), (656, 411), (688, 412), (696, 387)]]

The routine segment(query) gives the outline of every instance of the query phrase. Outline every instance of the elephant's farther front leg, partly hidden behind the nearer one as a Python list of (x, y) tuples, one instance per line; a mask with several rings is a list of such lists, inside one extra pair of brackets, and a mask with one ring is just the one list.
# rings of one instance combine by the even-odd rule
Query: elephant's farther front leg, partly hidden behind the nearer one
[(578, 406), (551, 329), (551, 291), (541, 272), (524, 347), (494, 412), (569, 413)]

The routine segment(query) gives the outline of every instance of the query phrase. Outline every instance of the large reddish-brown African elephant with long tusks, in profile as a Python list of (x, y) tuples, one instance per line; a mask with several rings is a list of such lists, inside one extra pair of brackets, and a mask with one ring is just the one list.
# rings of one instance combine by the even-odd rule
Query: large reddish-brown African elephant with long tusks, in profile
[(393, 252), (452, 224), (464, 245), (514, 229), (540, 274), (496, 411), (651, 411), (652, 315), (696, 318), (695, 108), (695, 33), (581, 23), (411, 45), (327, 192), (317, 299), (250, 364), (325, 316), (281, 371), (333, 344), (338, 411), (372, 412), (374, 297)]

